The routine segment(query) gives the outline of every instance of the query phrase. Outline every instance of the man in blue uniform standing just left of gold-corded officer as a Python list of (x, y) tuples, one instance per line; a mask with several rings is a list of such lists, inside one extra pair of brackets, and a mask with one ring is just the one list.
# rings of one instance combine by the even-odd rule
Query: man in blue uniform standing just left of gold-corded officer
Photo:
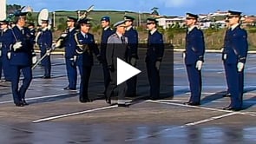
[(67, 19), (67, 25), (68, 29), (66, 29), (66, 36), (64, 38), (64, 48), (65, 48), (65, 60), (66, 60), (66, 69), (67, 69), (67, 75), (69, 80), (69, 86), (64, 88), (67, 90), (75, 90), (76, 89), (76, 81), (77, 81), (77, 70), (76, 65), (74, 61), (75, 56), (75, 40), (74, 35), (77, 30), (75, 29), (75, 23), (77, 21), (77, 18), (68, 16)]

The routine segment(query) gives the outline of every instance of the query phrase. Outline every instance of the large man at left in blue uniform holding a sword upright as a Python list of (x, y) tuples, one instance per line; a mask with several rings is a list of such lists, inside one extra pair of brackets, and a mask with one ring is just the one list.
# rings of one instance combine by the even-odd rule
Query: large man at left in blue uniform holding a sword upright
[[(32, 80), (31, 65), (34, 43), (31, 38), (32, 36), (30, 36), (30, 29), (24, 27), (26, 23), (26, 13), (16, 13), (15, 23), (16, 26), (11, 29), (12, 32), (9, 36), (11, 40), (11, 89), (14, 103), (17, 107), (23, 107), (28, 104), (25, 101), (25, 93)], [(23, 73), (23, 84), (18, 88), (21, 72)]]

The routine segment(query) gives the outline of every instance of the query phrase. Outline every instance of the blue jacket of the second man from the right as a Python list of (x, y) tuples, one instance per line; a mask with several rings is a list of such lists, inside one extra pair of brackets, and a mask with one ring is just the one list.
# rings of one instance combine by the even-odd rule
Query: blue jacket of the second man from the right
[(205, 41), (203, 32), (194, 27), (186, 36), (185, 64), (194, 64), (197, 61), (204, 62)]

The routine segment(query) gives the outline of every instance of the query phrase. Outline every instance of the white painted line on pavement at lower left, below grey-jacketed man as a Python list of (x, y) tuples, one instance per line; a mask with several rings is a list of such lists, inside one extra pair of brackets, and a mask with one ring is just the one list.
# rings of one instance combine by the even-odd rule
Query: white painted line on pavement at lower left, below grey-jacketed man
[(95, 111), (98, 111), (98, 110), (105, 110), (105, 109), (117, 108), (117, 107), (118, 107), (118, 105), (108, 106), (108, 107), (103, 107), (103, 108), (94, 108), (94, 109), (84, 110), (84, 111), (81, 111), (81, 112), (51, 116), (51, 117), (35, 120), (35, 121), (32, 121), (32, 122), (36, 123), (36, 122), (43, 122), (43, 121), (51, 121), (51, 120), (56, 120), (56, 119), (60, 119), (60, 118), (63, 118), (63, 117), (68, 117), (68, 116), (73, 116), (73, 115), (82, 115), (82, 114), (86, 114), (86, 113), (90, 113), (90, 112), (95, 112)]

